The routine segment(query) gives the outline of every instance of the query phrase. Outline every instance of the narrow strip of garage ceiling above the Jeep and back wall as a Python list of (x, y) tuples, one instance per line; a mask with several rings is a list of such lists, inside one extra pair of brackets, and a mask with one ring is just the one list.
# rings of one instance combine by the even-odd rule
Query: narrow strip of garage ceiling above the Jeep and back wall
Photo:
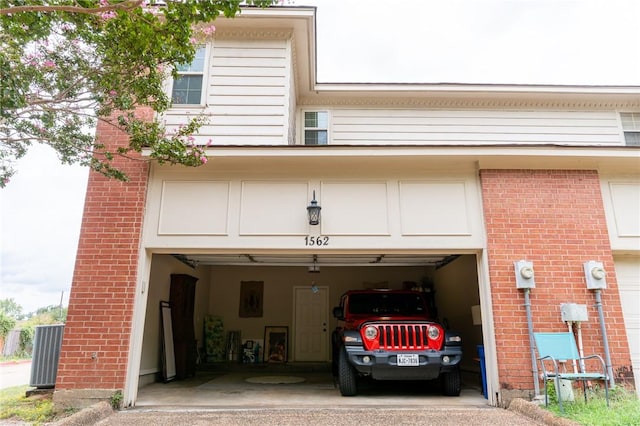
[(191, 265), (204, 266), (436, 266), (459, 255), (409, 254), (198, 254), (174, 255)]

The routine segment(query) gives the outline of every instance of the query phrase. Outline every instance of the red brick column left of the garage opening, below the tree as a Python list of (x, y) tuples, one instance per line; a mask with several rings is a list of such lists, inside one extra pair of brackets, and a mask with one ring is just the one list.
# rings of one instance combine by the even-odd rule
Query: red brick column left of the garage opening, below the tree
[[(104, 123), (97, 135), (111, 149), (127, 144)], [(148, 180), (147, 161), (134, 157), (114, 161), (128, 182), (89, 174), (56, 394), (125, 385)]]

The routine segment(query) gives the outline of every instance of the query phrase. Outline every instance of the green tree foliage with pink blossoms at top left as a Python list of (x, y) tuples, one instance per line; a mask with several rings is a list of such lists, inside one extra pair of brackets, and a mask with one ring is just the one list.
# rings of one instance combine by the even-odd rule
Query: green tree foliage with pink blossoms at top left
[[(193, 28), (235, 16), (240, 3), (0, 0), (0, 187), (34, 143), (53, 147), (63, 163), (120, 180), (127, 177), (113, 159), (143, 148), (158, 162), (204, 164), (203, 148), (190, 137), (206, 117), (167, 136), (157, 119), (135, 111), (146, 106), (157, 117), (170, 107), (164, 81), (193, 60)], [(98, 120), (126, 132), (129, 145), (109, 151), (95, 138)]]

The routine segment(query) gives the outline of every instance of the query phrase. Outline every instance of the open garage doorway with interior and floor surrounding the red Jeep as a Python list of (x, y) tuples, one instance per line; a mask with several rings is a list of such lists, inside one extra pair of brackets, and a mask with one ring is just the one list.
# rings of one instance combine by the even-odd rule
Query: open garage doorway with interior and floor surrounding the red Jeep
[[(183, 359), (189, 366), (179, 379), (163, 383), (159, 304), (170, 302), (176, 275), (194, 282), (179, 302), (190, 306), (193, 337), (183, 326), (174, 327), (175, 335), (187, 333), (192, 340), (186, 348), (176, 347), (186, 351)], [(236, 395), (234, 404), (240, 403), (260, 385), (270, 386), (247, 379), (270, 375), (304, 378), (306, 385), (280, 384), (282, 391), (297, 394), (306, 389), (316, 397), (340, 398), (330, 350), (331, 333), (339, 322), (331, 311), (344, 292), (362, 288), (423, 291), (439, 321), (463, 338), (462, 396), (471, 398), (471, 404), (486, 404), (478, 356), (483, 344), (478, 281), (474, 254), (153, 255), (136, 405), (166, 404), (163, 398), (174, 405), (193, 405), (197, 395), (212, 389), (221, 393), (209, 395), (205, 405), (230, 404), (222, 395)], [(270, 359), (274, 335), (283, 338), (281, 360)], [(390, 386), (372, 384), (367, 389), (393, 396)], [(418, 389), (415, 396), (425, 403), (430, 387)], [(406, 397), (411, 386), (396, 390)]]

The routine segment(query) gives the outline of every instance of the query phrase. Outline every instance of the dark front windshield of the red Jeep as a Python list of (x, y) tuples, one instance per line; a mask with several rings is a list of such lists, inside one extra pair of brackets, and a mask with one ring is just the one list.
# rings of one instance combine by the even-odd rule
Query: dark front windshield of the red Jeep
[(427, 311), (420, 295), (410, 293), (354, 293), (349, 296), (351, 315), (421, 316)]

